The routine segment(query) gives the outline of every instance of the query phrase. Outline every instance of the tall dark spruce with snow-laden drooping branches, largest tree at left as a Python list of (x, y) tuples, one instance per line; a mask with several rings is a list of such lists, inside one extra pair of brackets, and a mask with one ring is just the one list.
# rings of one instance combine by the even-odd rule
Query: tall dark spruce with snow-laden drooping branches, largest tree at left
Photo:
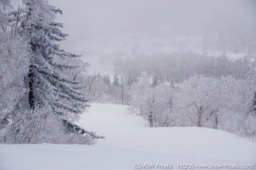
[[(78, 135), (86, 133), (93, 139), (104, 138), (63, 117), (66, 110), (73, 113), (84, 111), (89, 106), (86, 104), (89, 100), (79, 91), (80, 88), (76, 87), (78, 82), (58, 72), (58, 69), (74, 67), (59, 64), (53, 60), (54, 57), (63, 59), (79, 57), (60, 49), (55, 43), (68, 36), (58, 28), (62, 27), (62, 24), (54, 22), (56, 14), (62, 14), (62, 10), (48, 5), (47, 0), (23, 0), (22, 2), (24, 7), (21, 11), (22, 15), (18, 15), (20, 21), (18, 32), (27, 39), (31, 65), (29, 74), (25, 77), (28, 93), (21, 99), (18, 109), (22, 111), (33, 109), (35, 106), (50, 107), (68, 132)], [(17, 18), (17, 12), (12, 14), (14, 19)], [(60, 102), (60, 99), (68, 104)]]

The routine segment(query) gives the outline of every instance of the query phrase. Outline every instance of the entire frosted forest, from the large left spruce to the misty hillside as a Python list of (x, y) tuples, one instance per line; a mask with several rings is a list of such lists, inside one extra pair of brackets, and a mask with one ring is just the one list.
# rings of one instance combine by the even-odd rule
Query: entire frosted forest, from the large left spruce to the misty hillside
[[(0, 143), (94, 145), (105, 136), (75, 124), (94, 102), (128, 105), (127, 114), (149, 127), (255, 135), (255, 35), (205, 34), (197, 46), (203, 53), (186, 49), (191, 40), (170, 42), (179, 51), (169, 53), (161, 51), (166, 43), (154, 41), (149, 54), (138, 37), (132, 45), (121, 39), (128, 52), (95, 55), (101, 67), (113, 67), (110, 77), (89, 74), (85, 58), (58, 44), (68, 36), (55, 22), (60, 8), (45, 0), (22, 0), (16, 10), (9, 0), (0, 5)], [(243, 56), (227, 57), (230, 52)]]

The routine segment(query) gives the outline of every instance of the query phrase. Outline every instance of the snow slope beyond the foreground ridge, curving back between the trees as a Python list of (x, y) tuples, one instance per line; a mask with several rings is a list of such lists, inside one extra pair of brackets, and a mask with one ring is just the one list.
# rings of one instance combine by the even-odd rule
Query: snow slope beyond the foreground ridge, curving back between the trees
[(98, 146), (244, 162), (256, 160), (255, 143), (225, 131), (199, 127), (144, 128), (143, 119), (124, 114), (126, 106), (122, 105), (93, 104), (89, 112), (83, 114), (78, 124), (106, 136), (98, 141)]

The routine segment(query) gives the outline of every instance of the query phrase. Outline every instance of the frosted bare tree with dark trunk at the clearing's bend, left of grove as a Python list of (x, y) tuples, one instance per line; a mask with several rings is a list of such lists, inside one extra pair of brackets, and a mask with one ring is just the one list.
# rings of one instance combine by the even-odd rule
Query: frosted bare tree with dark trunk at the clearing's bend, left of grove
[(146, 79), (134, 83), (131, 88), (128, 113), (136, 113), (149, 121), (150, 127), (162, 123), (163, 114), (168, 109), (168, 86), (150, 86)]

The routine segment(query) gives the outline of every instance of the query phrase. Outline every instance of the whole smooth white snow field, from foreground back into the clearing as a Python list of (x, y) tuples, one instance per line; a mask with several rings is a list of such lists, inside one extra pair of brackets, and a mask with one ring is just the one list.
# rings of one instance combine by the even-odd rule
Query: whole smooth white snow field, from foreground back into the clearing
[(209, 128), (146, 128), (141, 117), (125, 111), (126, 106), (93, 103), (83, 114), (77, 124), (106, 136), (95, 146), (0, 145), (0, 169), (132, 170), (135, 163), (178, 169), (179, 164), (256, 163), (251, 140)]

